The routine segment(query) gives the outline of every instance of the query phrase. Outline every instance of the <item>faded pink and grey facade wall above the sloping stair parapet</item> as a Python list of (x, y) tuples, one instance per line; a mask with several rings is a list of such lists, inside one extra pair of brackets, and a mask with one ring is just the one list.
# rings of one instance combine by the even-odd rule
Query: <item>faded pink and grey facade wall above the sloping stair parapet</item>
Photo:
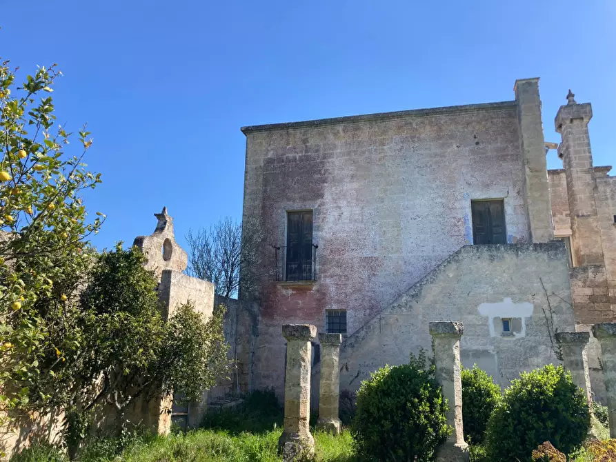
[(315, 283), (262, 281), (255, 387), (281, 390), (280, 325), (323, 332), (325, 309), (344, 309), (352, 333), (472, 243), (471, 199), (504, 198), (508, 241), (527, 241), (517, 127), (505, 102), (244, 129), (244, 218), (263, 219), (263, 260), (284, 248), (286, 210), (313, 210), (319, 245)]

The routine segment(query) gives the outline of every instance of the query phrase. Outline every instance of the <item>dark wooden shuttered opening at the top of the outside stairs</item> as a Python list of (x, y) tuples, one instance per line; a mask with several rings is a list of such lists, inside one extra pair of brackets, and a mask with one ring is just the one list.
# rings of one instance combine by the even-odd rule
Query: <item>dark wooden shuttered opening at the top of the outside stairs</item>
[(471, 201), (473, 243), (506, 244), (504, 201)]

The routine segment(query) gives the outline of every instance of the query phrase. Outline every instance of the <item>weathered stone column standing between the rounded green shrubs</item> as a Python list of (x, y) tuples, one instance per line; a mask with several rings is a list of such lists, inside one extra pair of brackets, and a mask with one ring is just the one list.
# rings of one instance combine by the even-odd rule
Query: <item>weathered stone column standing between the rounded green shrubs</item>
[(468, 462), (468, 444), (462, 428), (462, 383), (460, 379), (460, 337), (464, 324), (459, 321), (435, 321), (429, 325), (433, 339), (436, 379), (447, 400), (447, 423), (453, 432), (437, 450), (437, 462)]

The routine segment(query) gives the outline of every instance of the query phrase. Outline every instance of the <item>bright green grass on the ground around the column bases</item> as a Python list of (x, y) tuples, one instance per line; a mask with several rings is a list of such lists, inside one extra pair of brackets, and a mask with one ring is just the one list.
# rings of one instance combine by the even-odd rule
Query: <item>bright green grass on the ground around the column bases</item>
[[(253, 392), (239, 409), (206, 414), (203, 428), (170, 436), (135, 434), (122, 439), (93, 439), (79, 456), (80, 462), (280, 462), (278, 438), (283, 412), (271, 391)], [(609, 432), (593, 418), (594, 438)], [(318, 462), (357, 462), (348, 430), (338, 436), (315, 431)], [(480, 447), (472, 448), (471, 462), (491, 462)], [(11, 462), (68, 462), (59, 450), (37, 446), (14, 456)], [(573, 462), (590, 462), (586, 450)]]

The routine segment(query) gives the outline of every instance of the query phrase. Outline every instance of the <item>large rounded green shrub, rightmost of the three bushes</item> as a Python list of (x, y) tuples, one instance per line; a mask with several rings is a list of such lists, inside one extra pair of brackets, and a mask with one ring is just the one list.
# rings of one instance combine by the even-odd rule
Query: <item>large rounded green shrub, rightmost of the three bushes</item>
[(495, 461), (526, 461), (537, 446), (550, 441), (571, 454), (590, 428), (582, 390), (561, 366), (522, 372), (505, 390), (486, 432), (488, 455)]

